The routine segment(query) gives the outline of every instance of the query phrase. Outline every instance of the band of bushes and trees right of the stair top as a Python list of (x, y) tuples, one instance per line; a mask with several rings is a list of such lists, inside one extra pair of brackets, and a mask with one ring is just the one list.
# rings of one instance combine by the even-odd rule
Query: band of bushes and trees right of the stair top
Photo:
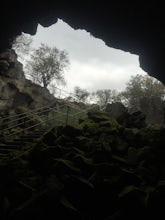
[[(81, 89), (79, 88), (79, 90)], [(127, 82), (125, 90), (121, 92), (102, 89), (88, 94), (88, 96), (101, 109), (105, 109), (108, 103), (122, 102), (131, 113), (143, 112), (146, 115), (146, 122), (149, 124), (163, 124), (165, 121), (165, 87), (150, 76), (132, 76)]]

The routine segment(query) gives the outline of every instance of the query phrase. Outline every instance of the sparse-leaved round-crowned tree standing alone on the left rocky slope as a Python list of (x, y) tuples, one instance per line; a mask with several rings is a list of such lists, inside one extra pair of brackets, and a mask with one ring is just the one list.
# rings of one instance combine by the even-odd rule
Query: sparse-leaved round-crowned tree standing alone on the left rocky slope
[(68, 66), (69, 59), (66, 51), (60, 51), (56, 47), (49, 47), (42, 43), (27, 61), (26, 73), (33, 82), (47, 88), (52, 81), (55, 81), (55, 84), (66, 84), (64, 69)]

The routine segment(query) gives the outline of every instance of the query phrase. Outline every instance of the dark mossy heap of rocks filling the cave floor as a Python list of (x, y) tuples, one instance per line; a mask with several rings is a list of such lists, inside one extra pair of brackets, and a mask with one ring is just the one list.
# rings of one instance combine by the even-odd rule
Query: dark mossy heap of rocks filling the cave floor
[(0, 160), (0, 218), (163, 219), (165, 127), (142, 113), (88, 112), (21, 156)]

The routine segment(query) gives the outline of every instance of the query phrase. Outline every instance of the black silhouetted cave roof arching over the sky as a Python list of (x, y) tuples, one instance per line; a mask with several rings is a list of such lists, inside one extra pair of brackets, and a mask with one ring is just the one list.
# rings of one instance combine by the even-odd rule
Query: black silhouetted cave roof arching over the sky
[(11, 46), (21, 32), (35, 34), (37, 25), (50, 26), (63, 19), (85, 29), (108, 46), (139, 55), (140, 66), (157, 79), (164, 76), (164, 7), (150, 1), (20, 1), (1, 3), (0, 50)]

